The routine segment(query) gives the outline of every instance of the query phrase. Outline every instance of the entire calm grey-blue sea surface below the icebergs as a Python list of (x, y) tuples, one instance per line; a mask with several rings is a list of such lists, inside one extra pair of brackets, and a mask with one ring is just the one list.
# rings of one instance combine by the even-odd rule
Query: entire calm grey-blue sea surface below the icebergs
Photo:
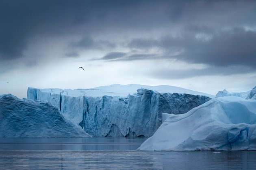
[(135, 151), (146, 138), (0, 138), (0, 169), (256, 170), (256, 152)]

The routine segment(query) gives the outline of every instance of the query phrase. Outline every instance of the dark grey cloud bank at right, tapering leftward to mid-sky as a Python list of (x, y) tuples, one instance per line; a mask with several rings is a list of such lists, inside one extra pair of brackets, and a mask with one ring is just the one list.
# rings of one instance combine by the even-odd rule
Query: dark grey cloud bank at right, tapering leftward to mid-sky
[[(158, 47), (165, 51), (166, 58), (176, 58), (189, 63), (215, 66), (244, 65), (252, 68), (255, 68), (256, 63), (256, 32), (242, 28), (207, 34), (198, 31), (179, 37), (165, 36), (160, 40), (134, 39), (128, 47), (131, 49)], [(169, 55), (179, 51), (182, 52), (178, 55)]]

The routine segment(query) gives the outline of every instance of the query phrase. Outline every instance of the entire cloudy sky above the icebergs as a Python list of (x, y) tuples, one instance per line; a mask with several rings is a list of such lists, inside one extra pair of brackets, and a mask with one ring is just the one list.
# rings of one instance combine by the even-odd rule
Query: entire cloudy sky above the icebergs
[(111, 84), (248, 91), (255, 16), (254, 0), (0, 0), (0, 94)]

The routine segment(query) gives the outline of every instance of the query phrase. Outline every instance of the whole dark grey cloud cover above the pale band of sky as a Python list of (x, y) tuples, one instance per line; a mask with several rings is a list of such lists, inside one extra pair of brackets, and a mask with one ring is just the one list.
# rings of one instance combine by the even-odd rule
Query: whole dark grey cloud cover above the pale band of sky
[[(216, 69), (255, 68), (255, 9), (256, 1), (251, 0), (0, 0), (0, 60), (1, 64), (14, 59), (36, 63), (42, 55), (33, 55), (32, 60), (24, 54), (32, 39), (62, 36), (75, 37), (75, 41), (65, 39), (66, 57), (79, 57), (86, 49), (120, 51), (118, 47), (128, 44), (130, 52), (107, 53), (102, 60), (171, 58)], [(161, 33), (154, 37), (154, 32)], [(108, 33), (117, 37), (95, 38)], [(115, 38), (122, 43), (115, 43)], [(162, 53), (150, 53), (152, 48)]]

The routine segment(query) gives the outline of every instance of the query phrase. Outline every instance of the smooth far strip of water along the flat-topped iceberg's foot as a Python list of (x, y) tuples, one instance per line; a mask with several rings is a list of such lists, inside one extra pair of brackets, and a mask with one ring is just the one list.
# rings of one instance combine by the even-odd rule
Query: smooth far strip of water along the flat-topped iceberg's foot
[(0, 150), (127, 151), (147, 138), (0, 138)]

